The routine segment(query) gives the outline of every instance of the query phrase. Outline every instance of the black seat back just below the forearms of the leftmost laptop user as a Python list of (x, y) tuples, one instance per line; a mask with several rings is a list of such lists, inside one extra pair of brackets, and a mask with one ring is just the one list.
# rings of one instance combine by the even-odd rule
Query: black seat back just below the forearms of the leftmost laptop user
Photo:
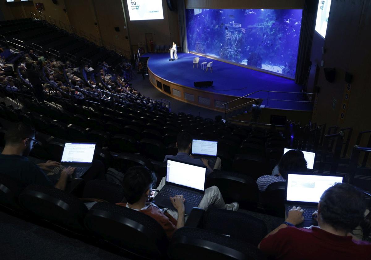
[(54, 187), (29, 185), (19, 195), (20, 204), (29, 212), (66, 230), (86, 233), (85, 204), (72, 194)]

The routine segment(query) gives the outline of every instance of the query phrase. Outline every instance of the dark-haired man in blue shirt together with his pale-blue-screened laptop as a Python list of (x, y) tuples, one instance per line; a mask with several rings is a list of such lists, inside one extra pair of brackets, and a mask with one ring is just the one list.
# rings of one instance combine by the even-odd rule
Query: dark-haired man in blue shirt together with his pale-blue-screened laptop
[[(192, 148), (192, 155), (190, 155), (192, 143), (194, 143), (196, 149), (193, 150)], [(177, 136), (176, 145), (178, 147), (177, 155), (165, 156), (164, 162), (167, 159), (175, 159), (185, 163), (193, 163), (200, 166), (205, 165), (207, 167), (206, 175), (209, 175), (214, 169), (220, 170), (221, 161), (216, 156), (216, 141), (192, 140), (189, 133), (180, 132)]]

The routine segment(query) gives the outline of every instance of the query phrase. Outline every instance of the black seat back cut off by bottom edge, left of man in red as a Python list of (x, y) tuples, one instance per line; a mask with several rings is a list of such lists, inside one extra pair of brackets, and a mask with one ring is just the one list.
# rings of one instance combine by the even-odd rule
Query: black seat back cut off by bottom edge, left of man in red
[(264, 259), (256, 246), (212, 231), (193, 227), (178, 229), (170, 240), (171, 259)]

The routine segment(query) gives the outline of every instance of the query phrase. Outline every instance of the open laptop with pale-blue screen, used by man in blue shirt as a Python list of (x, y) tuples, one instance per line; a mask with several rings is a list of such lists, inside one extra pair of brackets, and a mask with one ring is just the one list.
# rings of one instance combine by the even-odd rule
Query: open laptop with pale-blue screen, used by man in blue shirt
[(196, 159), (209, 160), (209, 166), (214, 169), (216, 163), (216, 153), (218, 150), (218, 141), (211, 140), (192, 140), (192, 156)]

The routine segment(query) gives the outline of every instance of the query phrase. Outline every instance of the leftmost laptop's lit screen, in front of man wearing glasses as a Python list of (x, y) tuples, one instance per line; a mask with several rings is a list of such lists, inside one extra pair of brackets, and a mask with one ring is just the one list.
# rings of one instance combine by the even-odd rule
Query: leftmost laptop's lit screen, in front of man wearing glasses
[(66, 143), (62, 163), (92, 163), (95, 143)]

